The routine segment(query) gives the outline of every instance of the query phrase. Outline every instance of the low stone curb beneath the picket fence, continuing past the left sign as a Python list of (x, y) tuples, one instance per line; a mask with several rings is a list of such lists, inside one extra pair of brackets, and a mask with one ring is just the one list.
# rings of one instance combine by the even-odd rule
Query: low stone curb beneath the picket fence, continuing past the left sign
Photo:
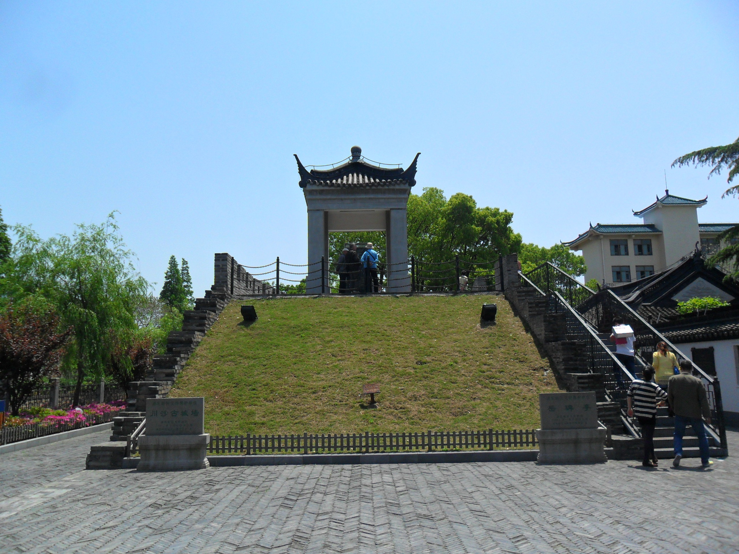
[[(475, 452), (394, 452), (389, 454), (279, 454), (276, 456), (208, 456), (211, 468), (235, 465), (460, 464), (471, 462), (536, 462), (538, 450)], [(124, 458), (133, 469), (138, 458)]]

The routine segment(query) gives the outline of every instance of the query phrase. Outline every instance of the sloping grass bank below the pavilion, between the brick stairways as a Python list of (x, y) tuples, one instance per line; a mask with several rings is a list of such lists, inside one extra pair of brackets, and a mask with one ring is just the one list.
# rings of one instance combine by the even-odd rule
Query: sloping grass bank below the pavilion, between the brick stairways
[[(481, 328), (484, 301), (497, 324)], [(222, 312), (171, 393), (205, 397), (212, 434), (535, 428), (537, 394), (557, 390), (503, 296), (253, 303), (249, 326), (240, 302)]]

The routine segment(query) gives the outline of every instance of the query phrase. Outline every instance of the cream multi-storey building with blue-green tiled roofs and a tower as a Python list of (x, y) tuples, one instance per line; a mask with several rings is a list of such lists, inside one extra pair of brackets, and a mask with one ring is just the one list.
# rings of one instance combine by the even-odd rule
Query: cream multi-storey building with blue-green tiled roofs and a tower
[(700, 245), (712, 253), (721, 245), (716, 236), (738, 223), (699, 223), (698, 208), (706, 198), (691, 200), (664, 196), (633, 212), (641, 223), (590, 224), (590, 228), (571, 242), (570, 250), (582, 250), (585, 281), (621, 284), (658, 273), (689, 256)]

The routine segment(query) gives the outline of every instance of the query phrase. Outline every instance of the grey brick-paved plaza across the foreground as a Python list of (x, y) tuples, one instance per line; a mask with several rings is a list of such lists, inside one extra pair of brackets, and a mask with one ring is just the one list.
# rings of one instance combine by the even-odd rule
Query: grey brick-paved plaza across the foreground
[(84, 471), (105, 437), (0, 456), (0, 552), (739, 551), (736, 457), (708, 471), (698, 459)]

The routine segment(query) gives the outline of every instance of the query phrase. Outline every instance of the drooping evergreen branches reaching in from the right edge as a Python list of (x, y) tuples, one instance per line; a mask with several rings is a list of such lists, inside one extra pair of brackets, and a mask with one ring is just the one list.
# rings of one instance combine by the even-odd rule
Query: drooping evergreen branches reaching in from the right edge
[[(711, 146), (685, 154), (672, 162), (672, 167), (675, 167), (675, 165), (678, 167), (683, 165), (712, 165), (713, 167), (708, 174), (709, 179), (713, 174), (721, 175), (721, 171), (728, 169), (729, 175), (726, 182), (730, 184), (734, 177), (739, 174), (739, 138), (724, 146)], [(721, 198), (736, 196), (737, 194), (739, 194), (739, 185), (732, 185), (724, 191)], [(729, 244), (711, 256), (707, 260), (708, 263), (732, 267), (732, 273), (726, 277), (739, 279), (739, 225), (723, 231), (716, 238)]]

